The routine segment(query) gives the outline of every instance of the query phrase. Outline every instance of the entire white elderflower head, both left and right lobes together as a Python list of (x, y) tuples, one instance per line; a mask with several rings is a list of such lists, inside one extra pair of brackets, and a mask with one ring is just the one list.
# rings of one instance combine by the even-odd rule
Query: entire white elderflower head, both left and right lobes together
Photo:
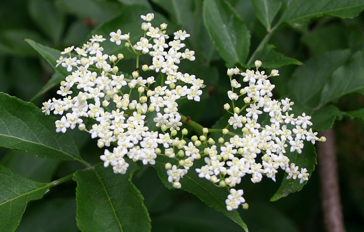
[[(177, 101), (184, 98), (200, 101), (201, 89), (205, 87), (204, 81), (195, 75), (178, 71), (181, 60), (195, 60), (195, 52), (183, 43), (190, 35), (179, 30), (169, 39), (167, 24), (152, 26), (154, 14), (141, 18), (145, 21), (141, 25), (144, 36), (133, 45), (129, 33), (122, 34), (121, 30), (110, 33), (111, 42), (121, 45), (124, 41), (125, 47), (136, 55), (136, 71), (131, 74), (119, 71), (117, 64), (123, 54), (103, 53), (101, 43), (106, 39), (102, 35), (92, 36), (81, 48), (71, 46), (61, 52), (57, 66), (71, 74), (57, 91), (62, 97), (50, 99), (42, 107), (45, 114), (53, 111), (62, 115), (55, 123), (57, 132), (65, 133), (78, 125), (79, 130), (98, 139), (100, 148), (110, 147), (100, 159), (105, 167), (111, 165), (115, 173), (126, 173), (129, 166), (126, 159), (153, 165), (157, 156), (167, 156), (173, 163), (165, 163), (167, 180), (174, 188), (181, 188), (181, 178), (195, 160), (203, 157), (206, 164), (194, 169), (200, 178), (229, 190), (225, 201), (228, 210), (245, 203), (243, 190), (235, 187), (247, 174), (253, 183), (260, 182), (263, 175), (276, 181), (281, 168), (288, 173), (287, 179), (299, 179), (301, 184), (308, 180), (306, 168), (299, 170), (285, 154), (288, 149), (301, 153), (303, 140), (314, 143), (325, 139), (317, 138), (317, 133), (308, 129), (312, 125), (308, 115), (303, 113), (295, 118), (290, 114), (293, 105), (290, 99), (270, 98), (275, 85), (268, 78), (278, 76), (277, 70), (267, 76), (258, 71), (259, 61), (255, 62), (257, 71), (241, 73), (238, 68), (229, 69), (232, 89), (228, 96), (232, 106), (224, 105), (232, 114), (228, 125), (222, 130), (203, 128), (200, 137), (184, 139), (188, 131), (180, 127), (183, 122), (188, 124), (190, 118), (178, 112)], [(149, 64), (141, 66), (143, 72), (157, 75), (141, 75), (140, 55), (152, 56)], [(240, 76), (247, 86), (243, 87), (233, 75)], [(239, 99), (245, 102), (241, 108), (235, 106)], [(265, 114), (270, 123), (260, 125), (258, 122), (262, 120), (258, 118), (266, 117)], [(153, 121), (159, 130), (150, 130), (146, 126), (148, 121)], [(231, 126), (234, 130), (229, 130)], [(216, 132), (222, 133), (218, 141), (208, 138), (209, 133)], [(243, 208), (247, 208), (246, 203)]]

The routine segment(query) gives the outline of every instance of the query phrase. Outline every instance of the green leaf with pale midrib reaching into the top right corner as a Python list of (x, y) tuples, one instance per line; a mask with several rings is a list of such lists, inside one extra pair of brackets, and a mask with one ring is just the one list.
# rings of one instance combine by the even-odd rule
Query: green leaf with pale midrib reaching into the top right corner
[(295, 0), (289, 2), (277, 25), (287, 22), (293, 27), (302, 27), (310, 19), (324, 15), (353, 18), (363, 9), (364, 3), (361, 0)]

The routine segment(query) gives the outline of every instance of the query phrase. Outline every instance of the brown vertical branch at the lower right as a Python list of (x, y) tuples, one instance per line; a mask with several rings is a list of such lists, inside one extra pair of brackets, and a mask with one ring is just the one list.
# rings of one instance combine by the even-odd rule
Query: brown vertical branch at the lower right
[(344, 218), (340, 201), (340, 188), (333, 129), (320, 132), (326, 142), (317, 144), (322, 207), (325, 227), (328, 232), (345, 232)]

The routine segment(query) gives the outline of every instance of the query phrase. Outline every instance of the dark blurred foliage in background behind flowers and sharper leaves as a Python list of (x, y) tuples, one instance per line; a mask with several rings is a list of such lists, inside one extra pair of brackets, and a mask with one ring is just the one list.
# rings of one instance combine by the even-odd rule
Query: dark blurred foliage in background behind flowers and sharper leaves
[[(264, 26), (255, 18), (249, 0), (228, 2), (251, 31), (250, 50), (254, 51), (265, 35)], [(283, 9), (285, 5), (286, 1), (283, 1)], [(181, 72), (189, 72), (205, 80), (207, 88), (198, 105), (196, 102), (182, 104), (180, 111), (201, 125), (211, 127), (224, 113), (222, 105), (228, 102), (226, 92), (230, 82), (225, 62), (204, 27), (200, 0), (185, 0), (179, 6), (172, 0), (0, 1), (0, 91), (25, 101), (31, 100), (40, 107), (41, 102), (54, 97), (59, 88), (57, 84), (51, 84), (49, 88), (53, 88), (50, 91), (42, 90), (51, 78), (59, 76), (23, 38), (63, 50), (67, 46), (81, 45), (90, 34), (98, 32), (99, 25), (107, 24), (114, 17), (119, 17), (114, 20), (124, 20), (127, 24), (128, 20), (139, 19), (140, 12), (150, 9), (162, 15), (168, 23), (168, 33), (183, 29), (191, 34), (187, 45), (196, 51), (196, 61), (183, 66)], [(130, 23), (130, 31), (140, 30), (132, 26)], [(363, 29), (363, 13), (354, 19), (322, 17), (300, 29), (284, 27), (269, 43), (276, 46), (276, 51), (305, 63), (327, 51), (350, 49), (354, 52), (362, 49)], [(123, 33), (126, 32), (124, 29)], [(120, 70), (131, 72), (134, 61), (128, 60), (127, 55), (125, 57)], [(320, 64), (317, 66), (320, 67)], [(282, 67), (279, 69), (281, 76), (271, 79), (276, 84), (276, 97), (292, 92), (289, 80), (296, 69), (297, 66)], [(364, 97), (346, 96), (335, 105), (342, 111), (356, 110), (364, 107)], [(334, 128), (346, 228), (352, 232), (364, 231), (364, 124), (344, 117), (335, 123)], [(95, 141), (91, 141), (86, 133), (77, 130), (71, 133), (82, 157), (92, 163), (99, 162), (102, 150), (97, 148)], [(39, 182), (50, 182), (82, 168), (76, 162), (40, 159), (26, 152), (2, 148), (0, 163)], [(250, 180), (243, 179), (241, 186), (249, 209), (240, 209), (240, 213), (250, 231), (324, 231), (317, 170), (300, 192), (269, 202), (280, 186), (283, 173), (280, 175), (278, 183), (263, 179), (263, 183), (252, 184)], [(167, 190), (153, 168), (143, 166), (134, 175), (133, 183), (145, 197), (152, 231), (242, 231), (237, 224), (206, 206), (196, 196), (182, 190)], [(64, 183), (53, 188), (43, 200), (31, 202), (16, 231), (78, 231), (75, 187), (75, 182)]]

